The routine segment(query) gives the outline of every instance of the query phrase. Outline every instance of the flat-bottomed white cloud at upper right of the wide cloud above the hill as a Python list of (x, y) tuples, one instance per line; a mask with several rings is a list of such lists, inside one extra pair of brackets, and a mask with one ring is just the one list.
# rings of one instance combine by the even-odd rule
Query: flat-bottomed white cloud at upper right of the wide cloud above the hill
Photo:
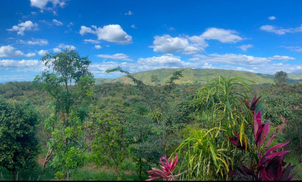
[(204, 39), (215, 39), (222, 43), (236, 43), (243, 40), (235, 30), (208, 28), (202, 35)]

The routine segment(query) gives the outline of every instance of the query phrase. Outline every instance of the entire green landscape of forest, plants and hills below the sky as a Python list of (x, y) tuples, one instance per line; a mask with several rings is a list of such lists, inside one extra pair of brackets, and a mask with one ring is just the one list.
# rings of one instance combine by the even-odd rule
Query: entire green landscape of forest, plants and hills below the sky
[(302, 179), (297, 73), (118, 67), (93, 84), (87, 56), (43, 60), (35, 81), (0, 84), (2, 180)]

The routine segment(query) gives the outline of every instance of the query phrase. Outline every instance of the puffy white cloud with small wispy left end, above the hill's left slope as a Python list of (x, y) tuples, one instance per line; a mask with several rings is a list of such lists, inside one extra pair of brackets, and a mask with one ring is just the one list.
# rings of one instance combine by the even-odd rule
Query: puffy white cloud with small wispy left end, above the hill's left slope
[(115, 42), (118, 44), (131, 44), (132, 37), (128, 35), (120, 25), (106, 25), (101, 27), (91, 26), (94, 30), (89, 27), (81, 26), (80, 34), (86, 33), (95, 34), (98, 36), (98, 40), (106, 40), (108, 42)]

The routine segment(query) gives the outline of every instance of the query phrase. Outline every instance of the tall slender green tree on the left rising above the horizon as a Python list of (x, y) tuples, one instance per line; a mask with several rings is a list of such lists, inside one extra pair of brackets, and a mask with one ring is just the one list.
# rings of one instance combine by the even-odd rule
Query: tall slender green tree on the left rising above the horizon
[[(90, 86), (94, 77), (88, 71), (91, 61), (81, 57), (75, 50), (65, 49), (60, 53), (47, 53), (41, 58), (45, 70), (37, 75), (34, 84), (52, 97), (53, 114), (46, 120), (46, 129), (51, 131), (49, 151), (45, 161), (54, 156), (52, 165), (66, 172), (83, 165), (85, 150), (85, 120), (89, 113), (88, 102), (93, 96)], [(84, 148), (84, 149), (83, 149)]]

